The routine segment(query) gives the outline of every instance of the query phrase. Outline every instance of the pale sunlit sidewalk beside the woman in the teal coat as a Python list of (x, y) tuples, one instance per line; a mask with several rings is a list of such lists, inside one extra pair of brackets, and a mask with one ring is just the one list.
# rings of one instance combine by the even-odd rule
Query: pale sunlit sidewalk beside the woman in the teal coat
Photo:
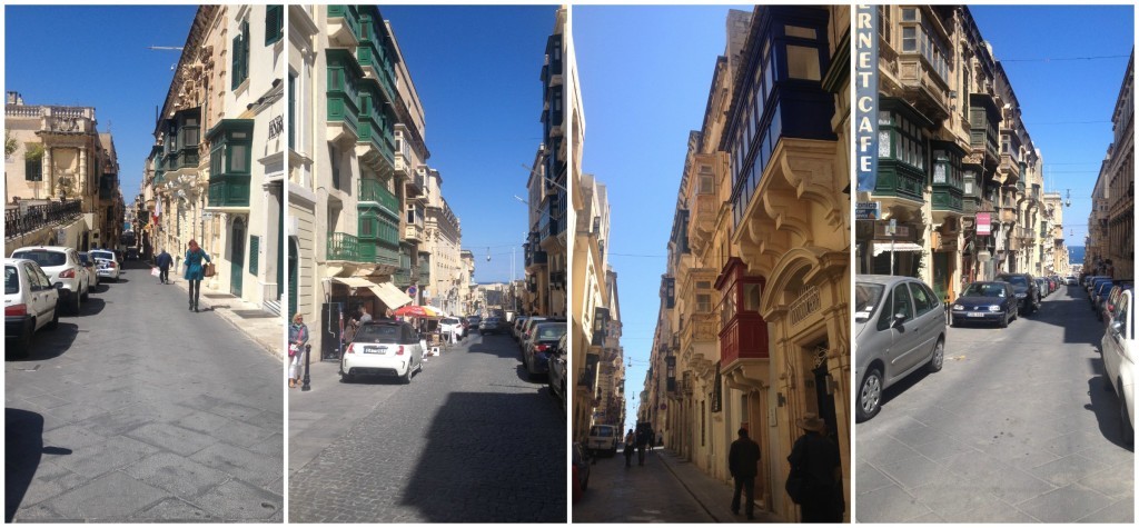
[[(148, 266), (153, 267), (154, 264), (145, 262)], [(142, 280), (153, 280), (158, 282), (158, 279), (149, 275), (149, 270), (147, 270), (147, 278)], [(181, 303), (182, 306), (189, 306), (189, 283), (181, 275), (174, 273), (174, 270), (170, 271), (170, 283), (177, 286), (181, 291)], [(267, 352), (273, 354), (281, 360), (285, 358), (285, 352), (282, 346), (285, 344), (285, 316), (273, 315), (270, 312), (265, 312), (261, 306), (253, 303), (247, 303), (239, 297), (231, 294), (218, 291), (206, 287), (205, 281), (202, 282), (202, 295), (198, 297), (198, 311), (199, 312), (213, 312), (220, 315), (230, 324), (236, 327), (238, 330), (244, 332), (249, 339), (253, 339), (259, 345), (261, 345)]]

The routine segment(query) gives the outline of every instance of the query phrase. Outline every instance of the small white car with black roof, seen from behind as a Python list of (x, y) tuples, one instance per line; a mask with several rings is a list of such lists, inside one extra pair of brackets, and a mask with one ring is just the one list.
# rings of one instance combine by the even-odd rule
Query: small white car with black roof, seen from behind
[(424, 348), (411, 324), (402, 321), (363, 323), (341, 360), (341, 381), (360, 376), (392, 376), (404, 383), (424, 370)]

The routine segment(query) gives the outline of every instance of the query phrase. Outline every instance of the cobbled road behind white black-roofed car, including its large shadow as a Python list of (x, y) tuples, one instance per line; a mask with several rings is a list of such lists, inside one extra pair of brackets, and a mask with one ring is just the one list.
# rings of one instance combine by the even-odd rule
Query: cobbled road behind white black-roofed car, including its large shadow
[(410, 385), (289, 391), (289, 522), (566, 522), (566, 418), (506, 336), (473, 335)]

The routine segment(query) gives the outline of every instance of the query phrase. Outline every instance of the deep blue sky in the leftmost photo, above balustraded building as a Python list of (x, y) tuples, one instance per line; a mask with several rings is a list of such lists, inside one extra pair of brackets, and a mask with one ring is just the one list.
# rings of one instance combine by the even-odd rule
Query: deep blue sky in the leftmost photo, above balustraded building
[[(197, 6), (6, 6), (5, 91), (27, 105), (95, 107), (112, 132), (126, 203), (154, 145), (155, 106), (166, 98)], [(47, 36), (50, 35), (50, 36)]]

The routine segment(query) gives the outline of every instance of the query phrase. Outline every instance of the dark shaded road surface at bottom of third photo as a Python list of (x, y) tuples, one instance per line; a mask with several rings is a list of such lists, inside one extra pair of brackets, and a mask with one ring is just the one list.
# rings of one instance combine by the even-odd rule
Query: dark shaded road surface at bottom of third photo
[[(623, 448), (623, 447), (622, 447)], [(780, 522), (755, 509), (755, 520), (731, 513), (734, 488), (700, 472), (671, 449), (593, 459), (589, 488), (573, 505), (573, 522)], [(759, 494), (759, 490), (756, 490)]]

